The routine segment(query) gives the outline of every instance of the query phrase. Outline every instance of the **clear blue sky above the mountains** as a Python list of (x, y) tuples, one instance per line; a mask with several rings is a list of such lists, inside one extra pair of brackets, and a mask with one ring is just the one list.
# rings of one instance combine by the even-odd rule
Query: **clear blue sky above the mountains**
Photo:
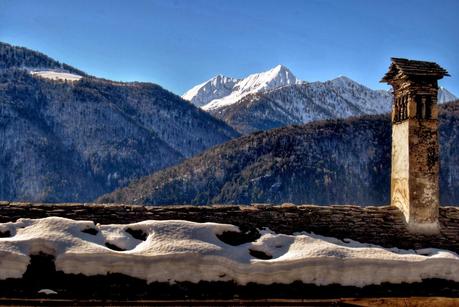
[(432, 60), (459, 96), (458, 15), (457, 0), (0, 0), (0, 40), (177, 94), (277, 64), (307, 81), (387, 88), (391, 56)]

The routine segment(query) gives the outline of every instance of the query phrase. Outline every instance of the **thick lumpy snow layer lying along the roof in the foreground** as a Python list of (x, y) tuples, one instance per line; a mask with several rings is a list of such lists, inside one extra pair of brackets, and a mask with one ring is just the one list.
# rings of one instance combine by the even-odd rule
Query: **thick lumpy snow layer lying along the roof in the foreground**
[[(83, 230), (92, 228), (91, 233)], [(141, 230), (145, 241), (126, 229)], [(59, 217), (19, 219), (0, 224), (11, 237), (0, 238), (0, 279), (20, 278), (30, 255), (54, 255), (65, 273), (121, 273), (147, 282), (229, 281), (244, 285), (292, 283), (365, 286), (419, 282), (427, 278), (459, 281), (459, 256), (438, 249), (385, 249), (309, 233), (262, 232), (255, 242), (228, 245), (217, 235), (238, 231), (233, 225), (188, 221), (144, 221), (94, 225)], [(97, 233), (96, 233), (97, 231)], [(116, 251), (110, 243), (125, 251)], [(257, 259), (249, 249), (271, 255)]]

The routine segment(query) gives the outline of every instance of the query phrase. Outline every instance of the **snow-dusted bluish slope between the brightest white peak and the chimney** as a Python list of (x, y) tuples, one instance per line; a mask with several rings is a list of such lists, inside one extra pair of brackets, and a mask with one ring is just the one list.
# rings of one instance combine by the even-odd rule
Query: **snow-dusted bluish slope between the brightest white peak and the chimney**
[(251, 94), (235, 104), (211, 111), (211, 114), (248, 134), (314, 120), (380, 114), (390, 110), (391, 95), (388, 92), (373, 91), (350, 79), (342, 79), (344, 77)]

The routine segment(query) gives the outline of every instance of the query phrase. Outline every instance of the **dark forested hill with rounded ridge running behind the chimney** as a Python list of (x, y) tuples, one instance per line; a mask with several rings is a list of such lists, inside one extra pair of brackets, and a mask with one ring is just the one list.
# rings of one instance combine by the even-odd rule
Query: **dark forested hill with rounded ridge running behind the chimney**
[[(387, 115), (255, 133), (100, 197), (99, 202), (209, 204), (389, 202)], [(459, 101), (440, 117), (441, 203), (459, 204)]]

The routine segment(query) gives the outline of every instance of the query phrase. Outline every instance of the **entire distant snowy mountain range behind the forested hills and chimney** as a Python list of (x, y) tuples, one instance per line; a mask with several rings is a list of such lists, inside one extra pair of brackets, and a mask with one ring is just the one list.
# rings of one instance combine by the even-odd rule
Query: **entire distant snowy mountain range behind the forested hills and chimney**
[[(344, 76), (325, 82), (300, 81), (279, 65), (240, 80), (218, 76), (183, 98), (248, 134), (313, 120), (386, 113), (392, 95)], [(457, 99), (444, 88), (438, 98), (440, 103)]]

